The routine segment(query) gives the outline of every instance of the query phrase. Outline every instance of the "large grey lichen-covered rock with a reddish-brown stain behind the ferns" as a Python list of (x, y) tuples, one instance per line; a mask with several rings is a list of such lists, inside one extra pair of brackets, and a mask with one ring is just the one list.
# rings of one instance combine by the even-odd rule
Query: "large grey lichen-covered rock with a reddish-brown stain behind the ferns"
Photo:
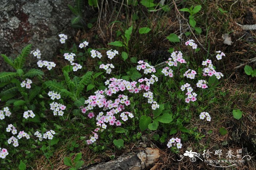
[[(68, 8), (74, 0), (1, 0), (0, 3), (0, 54), (13, 58), (23, 47), (33, 44), (39, 49), (42, 60), (52, 60), (60, 45), (59, 33), (71, 35)], [(36, 63), (36, 58), (29, 65)], [(10, 67), (0, 57), (0, 71)]]

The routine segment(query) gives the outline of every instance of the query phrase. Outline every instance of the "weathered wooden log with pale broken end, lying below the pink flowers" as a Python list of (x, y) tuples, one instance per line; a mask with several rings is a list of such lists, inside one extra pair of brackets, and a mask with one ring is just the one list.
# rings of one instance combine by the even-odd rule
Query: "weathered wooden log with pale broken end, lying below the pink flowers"
[(85, 167), (82, 170), (144, 170), (158, 162), (159, 157), (157, 148), (146, 148), (145, 151), (121, 156), (116, 160)]

